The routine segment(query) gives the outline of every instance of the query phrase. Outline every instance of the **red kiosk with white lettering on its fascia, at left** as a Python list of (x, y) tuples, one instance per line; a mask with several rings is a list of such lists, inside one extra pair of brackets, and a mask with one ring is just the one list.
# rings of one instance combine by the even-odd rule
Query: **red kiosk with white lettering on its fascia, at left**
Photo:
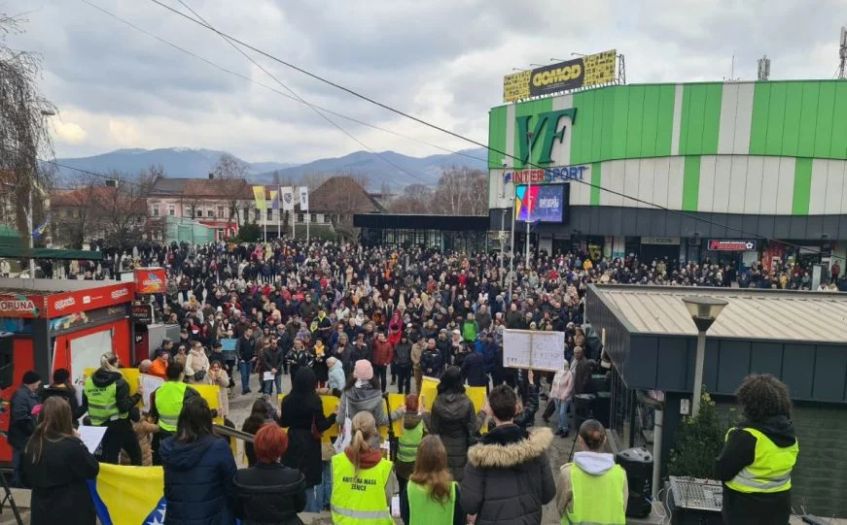
[[(50, 381), (67, 368), (78, 391), (83, 372), (113, 352), (133, 362), (130, 304), (135, 284), (120, 281), (0, 279), (0, 399), (11, 399), (27, 370)], [(9, 414), (0, 414), (0, 429)], [(0, 441), (0, 461), (11, 449)]]

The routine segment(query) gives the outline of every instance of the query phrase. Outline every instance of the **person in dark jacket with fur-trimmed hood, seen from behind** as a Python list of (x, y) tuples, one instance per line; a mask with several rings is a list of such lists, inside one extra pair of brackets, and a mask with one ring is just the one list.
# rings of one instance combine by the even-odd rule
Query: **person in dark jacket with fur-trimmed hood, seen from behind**
[(515, 425), (517, 404), (508, 386), (492, 389), (485, 411), (496, 427), (468, 451), (461, 502), (476, 525), (540, 524), (542, 505), (556, 495), (546, 454), (553, 433)]

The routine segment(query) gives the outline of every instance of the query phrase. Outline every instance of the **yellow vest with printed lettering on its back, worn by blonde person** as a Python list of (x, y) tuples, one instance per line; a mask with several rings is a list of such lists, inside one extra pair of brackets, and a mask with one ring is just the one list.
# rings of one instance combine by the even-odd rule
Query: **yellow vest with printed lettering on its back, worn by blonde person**
[(374, 467), (359, 469), (343, 452), (332, 457), (332, 522), (337, 525), (394, 525), (385, 485), (391, 462), (381, 459)]

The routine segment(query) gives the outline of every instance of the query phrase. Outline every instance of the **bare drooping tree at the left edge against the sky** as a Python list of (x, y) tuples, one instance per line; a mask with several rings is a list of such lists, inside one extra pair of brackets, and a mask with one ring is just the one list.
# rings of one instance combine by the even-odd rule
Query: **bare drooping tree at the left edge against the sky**
[(21, 22), (0, 14), (0, 171), (11, 174), (18, 230), (32, 239), (28, 215), (32, 214), (32, 224), (43, 220), (40, 196), (48, 186), (49, 173), (40, 168), (38, 159), (52, 156), (46, 117), (55, 114), (55, 108), (38, 90), (36, 56), (6, 44), (6, 36), (18, 33)]

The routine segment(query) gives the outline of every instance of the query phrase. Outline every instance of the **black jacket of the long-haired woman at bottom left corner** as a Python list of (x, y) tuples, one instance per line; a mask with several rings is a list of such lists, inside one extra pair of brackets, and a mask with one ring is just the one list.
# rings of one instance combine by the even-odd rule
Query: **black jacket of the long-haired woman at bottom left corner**
[(38, 463), (26, 452), (22, 472), (24, 484), (32, 488), (30, 523), (94, 525), (94, 503), (86, 480), (96, 478), (99, 471), (97, 460), (77, 438), (45, 440)]

